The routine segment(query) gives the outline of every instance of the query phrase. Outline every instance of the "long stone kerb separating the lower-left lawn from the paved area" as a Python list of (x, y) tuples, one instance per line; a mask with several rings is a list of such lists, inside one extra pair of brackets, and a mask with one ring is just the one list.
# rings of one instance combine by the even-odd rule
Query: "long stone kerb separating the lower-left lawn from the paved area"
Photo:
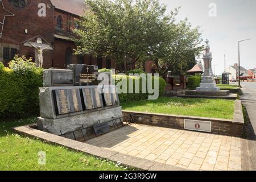
[[(27, 125), (27, 126), (15, 127), (15, 128), (13, 128), (13, 130), (19, 134), (30, 136), (32, 138), (38, 138), (40, 140), (43, 140), (44, 142), (58, 144), (58, 145), (70, 148), (71, 150), (75, 150), (78, 152), (84, 152), (85, 154), (112, 160), (114, 162), (117, 162), (118, 164), (122, 164), (123, 166), (133, 167), (138, 170), (139, 169), (148, 170), (150, 168), (154, 169), (156, 171), (179, 170), (179, 168), (170, 166), (168, 164), (163, 165), (162, 163), (154, 162), (152, 160), (138, 158), (138, 157), (135, 157), (132, 155), (121, 154), (116, 151), (106, 150), (105, 148), (102, 148), (102, 147), (97, 147), (97, 146), (93, 146), (91, 144), (77, 142), (72, 139), (67, 139), (67, 138), (59, 137), (57, 135), (46, 133), (44, 131), (36, 130), (34, 125), (32, 126), (32, 128), (31, 128), (31, 125)], [(114, 140), (113, 137), (112, 137), (112, 139)], [(99, 144), (101, 139), (95, 138), (94, 140), (96, 140), (97, 141), (96, 143)], [(122, 148), (124, 148), (124, 147), (121, 147), (121, 149)], [(138, 152), (140, 152), (140, 151), (138, 151)], [(131, 154), (135, 154), (135, 153), (131, 153)], [(182, 169), (180, 169), (180, 170), (182, 170)]]

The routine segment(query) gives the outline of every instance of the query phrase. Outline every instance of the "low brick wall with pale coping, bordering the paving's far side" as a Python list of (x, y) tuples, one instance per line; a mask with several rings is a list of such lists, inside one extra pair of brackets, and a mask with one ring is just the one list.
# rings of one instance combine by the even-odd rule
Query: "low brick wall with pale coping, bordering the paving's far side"
[(193, 119), (199, 121), (212, 122), (212, 133), (231, 135), (241, 137), (243, 133), (243, 113), (242, 104), (240, 100), (236, 100), (234, 119), (218, 119), (218, 118), (205, 118), (205, 117), (192, 117), (184, 115), (171, 115), (171, 114), (156, 114), (156, 113), (144, 113), (137, 111), (123, 110), (123, 115), (141, 115), (150, 119), (146, 121), (136, 121), (137, 123), (151, 126), (168, 127), (172, 129), (184, 130), (184, 119)]

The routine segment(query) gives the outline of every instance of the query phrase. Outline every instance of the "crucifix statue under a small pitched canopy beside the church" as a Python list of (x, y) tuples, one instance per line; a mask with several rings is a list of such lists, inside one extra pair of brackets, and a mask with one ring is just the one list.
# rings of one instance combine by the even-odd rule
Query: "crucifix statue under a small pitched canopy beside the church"
[[(33, 39), (33, 38), (32, 38)], [(23, 43), (24, 46), (27, 47), (34, 47), (35, 48), (35, 64), (36, 67), (42, 68), (43, 67), (43, 51), (44, 50), (53, 50), (53, 47), (51, 44), (47, 43), (46, 40), (41, 38), (40, 36), (34, 38), (36, 42), (31, 42), (30, 40), (27, 40)], [(42, 42), (42, 39), (45, 43)]]

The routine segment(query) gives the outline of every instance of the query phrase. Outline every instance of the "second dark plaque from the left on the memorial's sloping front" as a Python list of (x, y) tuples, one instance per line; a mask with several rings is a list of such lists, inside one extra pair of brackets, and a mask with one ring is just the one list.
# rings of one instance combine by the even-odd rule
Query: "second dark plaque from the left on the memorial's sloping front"
[(70, 89), (69, 100), (71, 106), (71, 112), (76, 113), (82, 111), (82, 102), (79, 89)]

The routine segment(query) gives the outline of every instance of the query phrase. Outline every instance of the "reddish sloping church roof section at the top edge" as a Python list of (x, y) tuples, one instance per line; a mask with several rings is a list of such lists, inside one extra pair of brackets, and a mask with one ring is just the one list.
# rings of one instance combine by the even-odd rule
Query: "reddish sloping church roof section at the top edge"
[(81, 16), (84, 10), (88, 10), (84, 0), (51, 0), (56, 9), (66, 11), (68, 13)]

